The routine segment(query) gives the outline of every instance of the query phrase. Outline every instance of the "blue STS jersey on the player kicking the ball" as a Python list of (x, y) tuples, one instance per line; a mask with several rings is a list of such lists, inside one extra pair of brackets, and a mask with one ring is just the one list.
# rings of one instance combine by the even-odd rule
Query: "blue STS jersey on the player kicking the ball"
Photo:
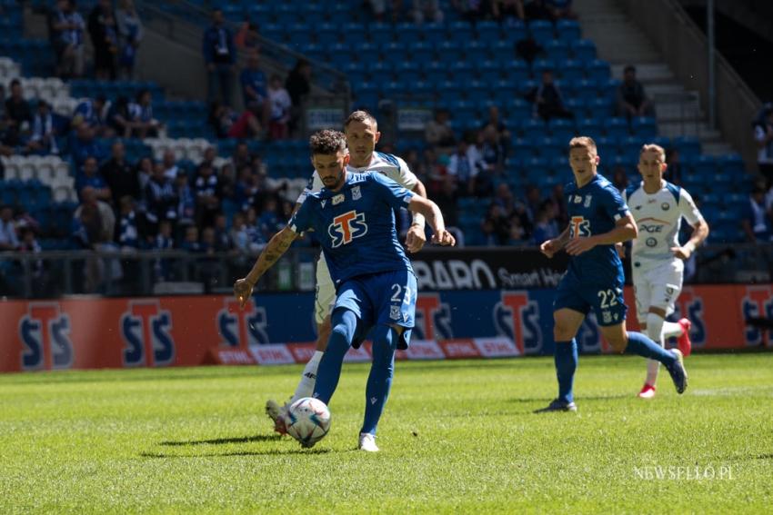
[(394, 212), (413, 195), (382, 173), (346, 173), (337, 192), (308, 193), (288, 225), (296, 233), (315, 230), (336, 285), (368, 273), (413, 272), (397, 240)]

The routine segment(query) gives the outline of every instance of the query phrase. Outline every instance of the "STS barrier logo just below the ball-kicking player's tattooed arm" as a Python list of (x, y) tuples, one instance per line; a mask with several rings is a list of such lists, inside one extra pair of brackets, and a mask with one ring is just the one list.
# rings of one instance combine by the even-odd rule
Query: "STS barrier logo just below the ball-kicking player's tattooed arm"
[(266, 308), (256, 308), (252, 299), (247, 301), (245, 309), (233, 298), (226, 298), (224, 304), (217, 312), (217, 332), (223, 337), (222, 345), (247, 347), (268, 343)]

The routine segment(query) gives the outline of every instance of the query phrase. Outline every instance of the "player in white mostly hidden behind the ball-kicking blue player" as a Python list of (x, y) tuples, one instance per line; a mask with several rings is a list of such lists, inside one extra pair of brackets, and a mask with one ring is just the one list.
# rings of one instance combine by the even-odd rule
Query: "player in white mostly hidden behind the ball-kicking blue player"
[[(427, 197), (427, 189), (410, 171), (405, 161), (391, 154), (375, 152), (376, 143), (381, 137), (378, 132), (376, 118), (365, 111), (355, 111), (349, 114), (344, 123), (344, 133), (348, 144), (350, 162), (347, 170), (352, 173), (374, 171), (383, 173), (407, 190), (422, 197)], [(298, 197), (296, 206), (304, 202), (309, 193), (316, 193), (323, 187), (318, 172), (312, 174), (306, 190)], [(297, 207), (296, 207), (297, 209)], [(413, 214), (413, 223), (407, 231), (406, 247), (408, 252), (417, 253), (424, 246), (427, 238), (424, 234), (425, 221), (421, 213)], [(336, 301), (336, 288), (327, 271), (327, 265), (323, 256), (319, 256), (316, 262), (316, 296), (315, 296), (315, 321), (316, 321), (316, 352), (306, 363), (301, 381), (298, 382), (296, 392), (285, 406), (280, 406), (274, 400), (266, 401), (266, 413), (274, 421), (274, 429), (279, 433), (285, 432), (281, 412), (294, 401), (310, 397), (316, 381), (316, 369), (325, 352), (327, 339), (330, 336), (330, 307)]]

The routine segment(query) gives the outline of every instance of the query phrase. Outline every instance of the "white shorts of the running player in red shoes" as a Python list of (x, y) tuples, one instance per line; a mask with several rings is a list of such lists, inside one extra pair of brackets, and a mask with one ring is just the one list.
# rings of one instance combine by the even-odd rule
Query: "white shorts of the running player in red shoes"
[(682, 291), (685, 263), (680, 259), (650, 266), (646, 270), (633, 267), (636, 315), (639, 323), (647, 323), (649, 308), (660, 308), (669, 315), (674, 312)]

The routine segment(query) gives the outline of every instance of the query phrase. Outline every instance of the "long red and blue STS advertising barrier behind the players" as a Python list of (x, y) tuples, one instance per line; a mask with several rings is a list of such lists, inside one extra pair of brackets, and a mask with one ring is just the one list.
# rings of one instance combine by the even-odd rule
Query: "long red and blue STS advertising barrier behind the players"
[[(625, 294), (632, 306), (631, 289)], [(411, 349), (399, 357), (552, 353), (553, 296), (546, 288), (421, 292)], [(0, 371), (304, 362), (313, 352), (313, 304), (309, 292), (258, 295), (245, 310), (228, 296), (0, 302)], [(698, 351), (773, 345), (771, 332), (745, 322), (773, 318), (772, 284), (688, 286), (677, 308), (693, 322)], [(633, 309), (628, 321), (635, 329)], [(582, 352), (609, 352), (592, 316), (577, 342)], [(368, 358), (367, 345), (349, 356)]]

